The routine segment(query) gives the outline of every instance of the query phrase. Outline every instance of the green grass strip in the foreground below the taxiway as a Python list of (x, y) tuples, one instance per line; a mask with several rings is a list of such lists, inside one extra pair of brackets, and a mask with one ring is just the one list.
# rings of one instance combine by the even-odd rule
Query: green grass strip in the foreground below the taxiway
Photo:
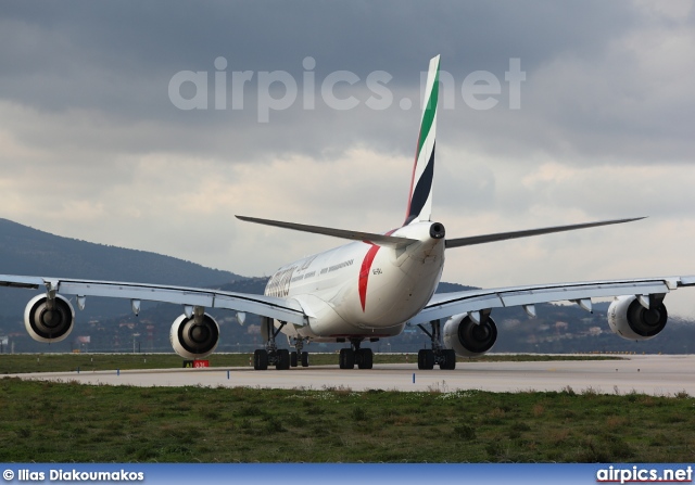
[(2, 462), (692, 462), (682, 394), (92, 386), (0, 379)]

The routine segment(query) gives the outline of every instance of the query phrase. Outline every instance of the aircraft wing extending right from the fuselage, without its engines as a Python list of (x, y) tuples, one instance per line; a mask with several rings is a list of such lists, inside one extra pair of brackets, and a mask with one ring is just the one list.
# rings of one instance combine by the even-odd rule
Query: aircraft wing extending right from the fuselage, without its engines
[(591, 298), (662, 295), (682, 286), (694, 286), (695, 276), (539, 284), (463, 292), (438, 293), (408, 323), (426, 323), (460, 314), (521, 306), (531, 317), (539, 303), (574, 302), (591, 311)]

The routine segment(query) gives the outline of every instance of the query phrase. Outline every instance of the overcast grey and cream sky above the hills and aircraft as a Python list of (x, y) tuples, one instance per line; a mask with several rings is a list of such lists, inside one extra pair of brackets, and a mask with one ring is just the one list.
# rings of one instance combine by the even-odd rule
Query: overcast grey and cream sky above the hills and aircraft
[(340, 242), (235, 214), (403, 221), (435, 54), (447, 235), (649, 216), (452, 250), (445, 281), (695, 275), (693, 1), (3, 1), (0, 217), (269, 276)]

